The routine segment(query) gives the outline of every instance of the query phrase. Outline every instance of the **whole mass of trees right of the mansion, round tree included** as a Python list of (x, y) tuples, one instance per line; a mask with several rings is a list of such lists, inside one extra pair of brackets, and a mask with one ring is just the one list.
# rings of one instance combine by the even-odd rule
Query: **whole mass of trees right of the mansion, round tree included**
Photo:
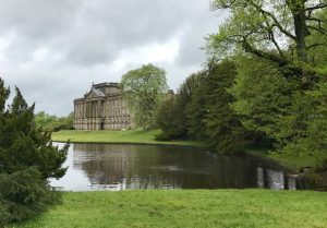
[[(191, 74), (174, 96), (167, 95), (162, 70), (141, 72), (149, 67), (143, 65), (137, 74), (123, 76), (132, 100), (145, 88), (145, 77), (156, 81), (152, 92), (157, 94), (141, 93), (149, 99), (146, 111), (135, 109), (136, 116), (152, 116), (147, 119), (153, 121), (140, 119), (138, 127), (159, 127), (158, 140), (206, 141), (218, 153), (264, 146), (278, 154), (313, 156), (326, 168), (326, 1), (210, 3), (230, 15), (206, 38), (203, 70)], [(134, 88), (126, 84), (132, 74)]]

